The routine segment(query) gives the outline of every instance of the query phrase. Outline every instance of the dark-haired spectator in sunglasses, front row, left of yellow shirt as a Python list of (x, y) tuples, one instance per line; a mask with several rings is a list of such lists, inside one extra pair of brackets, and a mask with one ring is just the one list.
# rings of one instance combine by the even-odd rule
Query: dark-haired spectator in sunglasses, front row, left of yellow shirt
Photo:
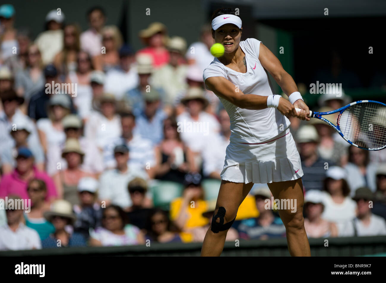
[(168, 213), (156, 209), (150, 216), (151, 229), (145, 239), (156, 243), (180, 243), (181, 237), (178, 233), (171, 231), (171, 222)]

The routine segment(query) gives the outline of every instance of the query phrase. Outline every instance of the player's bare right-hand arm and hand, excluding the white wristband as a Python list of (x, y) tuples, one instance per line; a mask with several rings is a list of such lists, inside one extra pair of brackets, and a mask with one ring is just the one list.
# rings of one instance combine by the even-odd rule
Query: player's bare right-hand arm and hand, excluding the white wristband
[[(260, 43), (259, 61), (261, 66), (263, 66), (264, 69), (266, 69), (269, 74), (271, 74), (276, 83), (278, 83), (278, 85), (281, 87), (281, 89), (283, 89), (284, 93), (287, 94), (288, 97), (291, 95), (291, 93), (298, 91), (298, 87), (296, 86), (296, 83), (291, 75), (283, 69), (279, 59), (262, 43)], [(302, 120), (310, 120), (310, 118), (305, 117), (305, 113), (309, 113), (310, 109), (303, 100), (296, 100), (294, 106), (296, 108), (305, 110), (301, 111), (298, 118)]]

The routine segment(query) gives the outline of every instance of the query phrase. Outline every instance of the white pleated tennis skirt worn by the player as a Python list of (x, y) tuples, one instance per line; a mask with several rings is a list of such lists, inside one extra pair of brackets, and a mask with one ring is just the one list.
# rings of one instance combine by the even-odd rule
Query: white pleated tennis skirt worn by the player
[(230, 142), (221, 179), (235, 183), (267, 184), (303, 176), (300, 155), (289, 128), (266, 143)]

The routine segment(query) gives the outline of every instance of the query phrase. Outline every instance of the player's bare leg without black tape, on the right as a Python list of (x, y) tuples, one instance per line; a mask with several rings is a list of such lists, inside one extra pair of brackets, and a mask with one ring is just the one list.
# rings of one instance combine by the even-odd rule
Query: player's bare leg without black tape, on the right
[[(301, 179), (268, 184), (274, 199), (296, 199), (296, 212), (279, 209), (279, 215), (286, 227), (288, 250), (291, 256), (311, 256), (310, 244), (303, 219), (303, 184)], [(295, 210), (294, 210), (295, 211)]]

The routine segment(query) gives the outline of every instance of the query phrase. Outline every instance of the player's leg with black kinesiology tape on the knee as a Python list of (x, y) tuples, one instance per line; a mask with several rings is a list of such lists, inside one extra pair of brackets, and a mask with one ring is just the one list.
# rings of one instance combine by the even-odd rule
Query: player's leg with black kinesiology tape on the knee
[[(252, 186), (253, 183), (233, 183), (222, 180), (214, 212), (214, 215), (218, 216), (216, 219), (217, 225), (210, 225), (202, 244), (201, 256), (220, 256), (224, 248), (227, 232), (229, 230), (229, 227), (226, 227), (226, 224), (233, 222), (240, 204), (245, 199)], [(224, 211), (225, 215), (222, 216), (221, 213)], [(223, 224), (220, 222), (222, 218)], [(224, 231), (218, 231), (221, 230), (222, 227), (224, 227), (223, 229), (227, 229)], [(216, 233), (213, 232), (212, 229), (215, 230)]]

